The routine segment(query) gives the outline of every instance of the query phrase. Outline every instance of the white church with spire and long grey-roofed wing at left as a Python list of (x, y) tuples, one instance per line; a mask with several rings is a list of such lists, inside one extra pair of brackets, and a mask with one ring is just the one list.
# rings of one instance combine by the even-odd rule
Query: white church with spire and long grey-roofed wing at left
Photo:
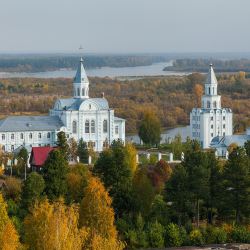
[(20, 146), (55, 146), (60, 131), (76, 141), (83, 138), (99, 152), (113, 140), (125, 142), (125, 120), (115, 117), (104, 97), (89, 97), (82, 59), (73, 81), (73, 97), (57, 100), (49, 116), (9, 116), (0, 120), (0, 145), (7, 152)]

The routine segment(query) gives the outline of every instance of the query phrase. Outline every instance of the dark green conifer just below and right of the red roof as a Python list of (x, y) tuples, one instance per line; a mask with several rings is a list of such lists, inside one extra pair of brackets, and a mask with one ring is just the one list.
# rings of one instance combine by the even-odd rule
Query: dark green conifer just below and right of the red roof
[(49, 199), (64, 196), (67, 191), (66, 175), (68, 162), (61, 150), (53, 150), (42, 168), (45, 192)]

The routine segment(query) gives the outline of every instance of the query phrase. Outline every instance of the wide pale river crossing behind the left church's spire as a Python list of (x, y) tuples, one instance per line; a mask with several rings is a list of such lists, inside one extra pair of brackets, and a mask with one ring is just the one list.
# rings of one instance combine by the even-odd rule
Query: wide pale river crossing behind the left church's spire
[[(172, 65), (172, 61), (154, 63), (148, 66), (136, 66), (136, 67), (101, 67), (86, 69), (88, 76), (96, 77), (143, 77), (143, 76), (170, 76), (170, 75), (187, 75), (185, 72), (174, 72), (174, 71), (163, 71), (166, 66)], [(0, 72), (0, 78), (12, 78), (12, 77), (35, 77), (35, 78), (73, 78), (75, 76), (76, 70), (72, 69), (61, 69), (55, 71), (46, 72)]]

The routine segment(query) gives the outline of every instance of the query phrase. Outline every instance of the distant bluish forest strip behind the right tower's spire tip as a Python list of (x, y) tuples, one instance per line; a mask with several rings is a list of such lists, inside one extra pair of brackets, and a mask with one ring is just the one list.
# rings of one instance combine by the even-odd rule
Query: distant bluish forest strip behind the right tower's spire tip
[(250, 72), (250, 59), (215, 60), (215, 59), (177, 59), (173, 66), (165, 71), (207, 72), (208, 65), (213, 63), (216, 72)]

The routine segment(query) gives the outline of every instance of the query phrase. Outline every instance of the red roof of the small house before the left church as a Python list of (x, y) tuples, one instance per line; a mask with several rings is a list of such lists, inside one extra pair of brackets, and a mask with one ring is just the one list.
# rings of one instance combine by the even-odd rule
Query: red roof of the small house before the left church
[(42, 166), (48, 158), (53, 147), (32, 147), (30, 163), (35, 166)]

